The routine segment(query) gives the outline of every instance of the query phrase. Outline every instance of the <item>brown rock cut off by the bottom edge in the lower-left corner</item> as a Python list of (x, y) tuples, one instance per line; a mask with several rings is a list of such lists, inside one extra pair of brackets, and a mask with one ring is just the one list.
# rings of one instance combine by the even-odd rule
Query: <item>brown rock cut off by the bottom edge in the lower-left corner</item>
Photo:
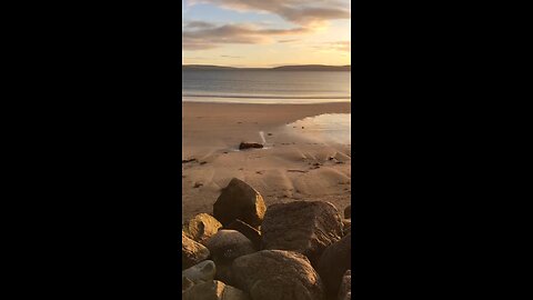
[(182, 296), (183, 300), (250, 300), (243, 291), (218, 280), (195, 284)]

